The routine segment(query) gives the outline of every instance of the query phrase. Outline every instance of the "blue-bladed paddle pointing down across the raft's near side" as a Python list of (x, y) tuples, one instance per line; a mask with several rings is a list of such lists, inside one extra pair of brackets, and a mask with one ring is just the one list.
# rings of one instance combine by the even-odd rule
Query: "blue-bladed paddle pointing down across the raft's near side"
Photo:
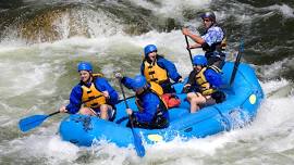
[[(128, 104), (127, 104), (126, 99), (125, 99), (125, 94), (124, 94), (124, 90), (123, 90), (121, 79), (119, 79), (119, 81), (120, 81), (120, 87), (121, 87), (121, 91), (122, 91), (122, 94), (123, 94), (123, 101), (124, 101), (125, 107), (128, 109)], [(133, 118), (131, 117), (131, 115), (128, 115), (128, 119), (130, 119), (130, 123), (131, 123), (131, 130), (132, 130), (132, 134), (133, 134), (133, 137), (134, 137), (134, 145), (135, 145), (137, 155), (143, 157), (145, 155), (145, 149), (144, 149), (142, 139), (140, 139), (139, 135), (134, 130)]]

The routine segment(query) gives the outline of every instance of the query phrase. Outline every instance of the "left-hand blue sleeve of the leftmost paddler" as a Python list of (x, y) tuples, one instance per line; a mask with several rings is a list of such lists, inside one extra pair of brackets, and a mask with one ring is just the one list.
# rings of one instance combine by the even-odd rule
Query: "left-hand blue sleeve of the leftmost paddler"
[(79, 111), (81, 105), (82, 105), (82, 88), (79, 85), (76, 85), (71, 92), (70, 96), (70, 103), (66, 105), (66, 110), (71, 114), (75, 114)]

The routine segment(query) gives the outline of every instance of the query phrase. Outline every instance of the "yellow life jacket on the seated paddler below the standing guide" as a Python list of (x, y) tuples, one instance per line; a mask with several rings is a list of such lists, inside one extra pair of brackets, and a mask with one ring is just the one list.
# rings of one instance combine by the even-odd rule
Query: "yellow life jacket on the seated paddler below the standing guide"
[(196, 76), (195, 76), (195, 80), (196, 80), (196, 84), (198, 86), (200, 86), (199, 90), (201, 92), (201, 94), (204, 96), (210, 96), (212, 94), (213, 92), (216, 92), (217, 90), (215, 88), (212, 88), (209, 82), (207, 81), (204, 73), (207, 68), (211, 68), (213, 71), (216, 71), (217, 73), (220, 73), (221, 69), (215, 65), (211, 65), (211, 66), (208, 66), (208, 67), (204, 67), (201, 71), (199, 71)]

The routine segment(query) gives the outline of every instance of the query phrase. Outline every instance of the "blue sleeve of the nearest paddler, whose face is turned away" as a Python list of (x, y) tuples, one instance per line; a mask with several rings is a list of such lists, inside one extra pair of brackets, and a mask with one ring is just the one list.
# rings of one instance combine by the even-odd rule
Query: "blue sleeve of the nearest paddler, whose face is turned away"
[(144, 110), (142, 112), (134, 112), (134, 115), (140, 123), (150, 123), (156, 115), (160, 101), (154, 93), (144, 94), (142, 100)]

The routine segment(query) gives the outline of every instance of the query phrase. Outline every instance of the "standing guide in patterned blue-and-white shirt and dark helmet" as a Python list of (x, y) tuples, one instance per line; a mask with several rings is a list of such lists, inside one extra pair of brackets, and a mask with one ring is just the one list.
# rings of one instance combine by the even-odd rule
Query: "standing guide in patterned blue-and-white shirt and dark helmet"
[(215, 65), (221, 69), (225, 60), (226, 39), (224, 30), (217, 24), (217, 18), (212, 11), (201, 13), (200, 17), (206, 29), (204, 35), (192, 34), (188, 28), (182, 29), (183, 35), (196, 42), (187, 49), (203, 48), (208, 65)]

